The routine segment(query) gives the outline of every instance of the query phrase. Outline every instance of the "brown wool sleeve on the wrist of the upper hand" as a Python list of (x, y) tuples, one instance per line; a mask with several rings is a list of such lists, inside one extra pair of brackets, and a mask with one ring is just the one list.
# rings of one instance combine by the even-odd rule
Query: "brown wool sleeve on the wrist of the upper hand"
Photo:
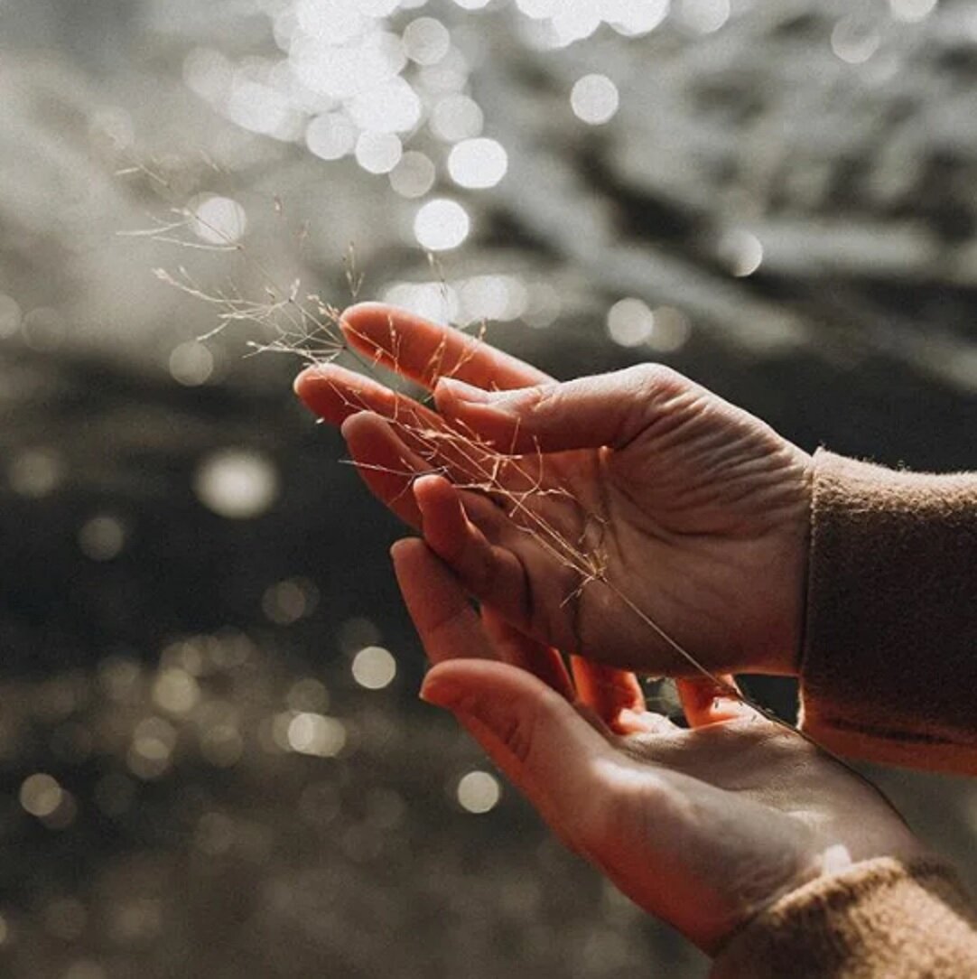
[(839, 754), (977, 774), (977, 476), (825, 451), (814, 472), (803, 728)]

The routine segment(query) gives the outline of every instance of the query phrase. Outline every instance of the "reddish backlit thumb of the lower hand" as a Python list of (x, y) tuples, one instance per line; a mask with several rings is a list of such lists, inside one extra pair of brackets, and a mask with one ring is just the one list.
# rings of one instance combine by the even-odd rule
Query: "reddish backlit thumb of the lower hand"
[(619, 761), (564, 697), (506, 663), (450, 660), (425, 677), (421, 698), (457, 717), (564, 843), (599, 847)]

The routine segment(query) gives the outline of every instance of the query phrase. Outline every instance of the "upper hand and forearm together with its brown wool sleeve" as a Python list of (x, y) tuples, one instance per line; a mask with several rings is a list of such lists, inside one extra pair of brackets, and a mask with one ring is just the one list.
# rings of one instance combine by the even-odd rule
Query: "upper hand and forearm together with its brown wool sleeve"
[[(799, 673), (805, 728), (839, 753), (977, 772), (977, 477), (808, 456), (657, 368), (556, 385), (375, 304), (349, 310), (345, 330), (354, 348), (437, 389), (442, 414), (337, 368), (304, 373), (300, 395), (345, 423), (371, 489), (414, 527), (423, 510), (434, 548), (510, 620), (611, 665), (689, 673), (618, 586), (711, 670)], [(444, 377), (482, 394), (439, 387)], [(520, 460), (517, 495), (544, 462), (549, 495), (507, 514), (488, 492), (417, 482), (432, 471), (461, 486), (484, 479), (458, 443), (423, 437), (452, 422)], [(566, 540), (610, 540), (606, 582), (582, 587), (572, 555), (527, 533), (527, 512)]]

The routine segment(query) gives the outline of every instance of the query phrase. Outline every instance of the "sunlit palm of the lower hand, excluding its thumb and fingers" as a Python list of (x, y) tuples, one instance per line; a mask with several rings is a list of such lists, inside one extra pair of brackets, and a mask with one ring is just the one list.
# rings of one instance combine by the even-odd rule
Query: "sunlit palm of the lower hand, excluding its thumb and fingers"
[(823, 874), (921, 853), (870, 785), (756, 716), (616, 741), (613, 825), (587, 855), (706, 951)]

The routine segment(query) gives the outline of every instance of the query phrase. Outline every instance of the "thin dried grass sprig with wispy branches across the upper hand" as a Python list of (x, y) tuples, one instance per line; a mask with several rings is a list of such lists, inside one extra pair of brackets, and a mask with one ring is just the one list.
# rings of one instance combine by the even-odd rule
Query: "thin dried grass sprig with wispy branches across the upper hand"
[[(152, 176), (145, 167), (134, 169)], [(282, 212), (281, 202), (278, 199), (275, 200), (275, 210), (279, 214)], [(260, 276), (264, 298), (259, 301), (242, 295), (233, 284), (215, 290), (207, 289), (197, 282), (184, 266), (178, 268), (177, 275), (162, 268), (155, 270), (157, 277), (167, 285), (198, 301), (208, 303), (217, 310), (218, 323), (199, 338), (202, 342), (219, 335), (232, 324), (250, 322), (271, 334), (271, 339), (265, 342), (248, 341), (252, 353), (287, 353), (313, 365), (332, 363), (340, 354), (351, 353), (368, 375), (375, 374), (375, 367), (385, 355), (396, 366), (399, 337), (393, 321), (390, 325), (388, 350), (378, 349), (376, 356), (370, 362), (369, 358), (364, 357), (358, 350), (349, 347), (341, 329), (341, 311), (337, 306), (323, 302), (316, 294), (309, 293), (302, 296), (301, 282), (298, 279), (294, 280), (288, 289), (278, 286), (267, 268), (250, 254), (243, 242), (228, 239), (223, 244), (218, 241), (217, 244), (208, 247), (193, 241), (189, 238), (189, 234), (201, 225), (205, 226), (213, 237), (218, 239), (227, 237), (220, 228), (214, 227), (199, 214), (187, 209), (175, 209), (171, 220), (160, 222), (158, 227), (134, 234), (182, 248), (203, 247), (206, 251), (237, 253), (244, 256)], [(448, 287), (441, 262), (434, 255), (429, 256), (429, 260), (446, 299)], [(355, 301), (360, 296), (365, 277), (357, 266), (356, 253), (352, 246), (349, 246), (343, 264), (349, 295)], [(466, 352), (452, 364), (446, 363), (447, 345), (446, 342), (442, 342), (432, 353), (422, 372), (425, 383), (433, 388), (438, 379), (458, 374), (473, 357), (477, 356), (478, 346), (484, 342), (487, 330), (488, 325), (480, 322), (477, 325), (475, 343), (469, 345)], [(343, 396), (351, 411), (367, 410), (370, 407), (365, 401), (350, 400), (346, 393), (343, 393)], [(437, 416), (433, 417), (437, 418)], [(538, 500), (544, 496), (563, 496), (568, 500), (574, 500), (578, 506), (580, 503), (569, 489), (547, 482), (544, 454), (538, 447), (534, 457), (535, 471), (531, 471), (525, 456), (518, 457), (513, 452), (501, 452), (483, 440), (477, 432), (465, 426), (449, 426), (446, 422), (433, 424), (427, 414), (411, 408), (406, 401), (399, 398), (395, 399), (394, 410), (387, 420), (395, 432), (409, 443), (411, 450), (428, 463), (428, 468), (419, 471), (416, 465), (406, 459), (403, 460), (402, 469), (356, 463), (358, 468), (381, 471), (402, 478), (405, 481), (405, 492), (409, 491), (410, 483), (415, 478), (437, 474), (449, 478), (458, 489), (483, 495), (495, 502), (501, 501), (510, 519), (520, 531), (532, 536), (535, 543), (554, 560), (576, 574), (577, 586), (565, 596), (565, 602), (579, 599), (583, 590), (595, 583), (603, 585), (648, 629), (649, 633), (668, 646), (692, 673), (707, 680), (715, 688), (717, 696), (738, 701), (756, 711), (770, 723), (803, 738), (815, 749), (854, 772), (862, 781), (879, 792), (861, 772), (852, 768), (807, 732), (783, 720), (751, 695), (726, 682), (706, 667), (647, 610), (634, 602), (624, 588), (611, 580), (608, 574), (608, 561), (602, 547), (599, 544), (585, 546), (584, 538), (587, 536), (585, 532), (579, 540), (574, 540), (545, 519), (537, 505)], [(591, 526), (601, 526), (604, 524), (604, 518), (600, 514), (586, 513), (585, 522)], [(879, 794), (882, 795), (881, 792)], [(882, 797), (885, 799), (884, 795)]]

